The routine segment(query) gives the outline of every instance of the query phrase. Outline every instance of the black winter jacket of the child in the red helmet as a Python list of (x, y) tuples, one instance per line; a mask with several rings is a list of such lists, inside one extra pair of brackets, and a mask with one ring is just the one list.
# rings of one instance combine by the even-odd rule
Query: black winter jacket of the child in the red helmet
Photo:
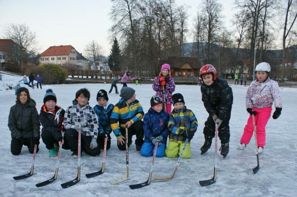
[(217, 77), (212, 85), (201, 84), (202, 101), (210, 116), (216, 114), (219, 119), (227, 119), (227, 111), (233, 104), (233, 93), (228, 82)]

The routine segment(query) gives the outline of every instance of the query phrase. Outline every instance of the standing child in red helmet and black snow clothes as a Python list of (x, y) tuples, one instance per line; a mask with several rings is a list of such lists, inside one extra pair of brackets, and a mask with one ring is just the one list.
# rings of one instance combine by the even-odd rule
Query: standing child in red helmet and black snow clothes
[(200, 69), (202, 101), (209, 116), (205, 122), (203, 134), (205, 142), (200, 148), (205, 153), (212, 145), (215, 137), (215, 127), (218, 124), (218, 136), (221, 140), (221, 155), (224, 158), (229, 153), (230, 128), (229, 120), (233, 103), (232, 89), (228, 82), (217, 77), (216, 68), (206, 64)]

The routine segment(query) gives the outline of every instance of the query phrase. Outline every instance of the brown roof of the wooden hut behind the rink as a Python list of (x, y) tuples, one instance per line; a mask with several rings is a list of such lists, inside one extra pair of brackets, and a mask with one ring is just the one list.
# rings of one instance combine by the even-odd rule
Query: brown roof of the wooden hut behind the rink
[(200, 69), (201, 65), (198, 57), (172, 57), (169, 56), (167, 59), (160, 59), (159, 67), (164, 63), (168, 63), (170, 68), (181, 68), (185, 63), (188, 63), (193, 69)]

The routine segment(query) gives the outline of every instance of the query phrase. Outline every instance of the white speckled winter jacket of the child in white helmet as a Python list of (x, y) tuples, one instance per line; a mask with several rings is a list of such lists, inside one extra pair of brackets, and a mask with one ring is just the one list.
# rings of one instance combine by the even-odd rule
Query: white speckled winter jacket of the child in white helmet
[(264, 107), (274, 106), (282, 108), (281, 93), (279, 92), (278, 83), (271, 80), (269, 77), (264, 82), (255, 81), (251, 82), (247, 88), (246, 107), (256, 107), (258, 109)]

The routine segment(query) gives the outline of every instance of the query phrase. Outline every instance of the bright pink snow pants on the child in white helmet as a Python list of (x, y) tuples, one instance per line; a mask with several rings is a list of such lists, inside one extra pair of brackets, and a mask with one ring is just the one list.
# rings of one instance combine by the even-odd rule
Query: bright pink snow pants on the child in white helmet
[[(264, 147), (266, 144), (265, 127), (270, 118), (272, 107), (271, 106), (264, 107), (262, 109), (257, 109), (256, 107), (253, 107), (253, 110), (257, 112), (257, 115), (255, 116), (255, 124), (256, 124), (258, 147)], [(253, 131), (254, 131), (253, 118), (250, 115), (250, 117), (247, 119), (247, 125), (244, 127), (240, 142), (244, 144), (248, 144), (253, 135)]]

